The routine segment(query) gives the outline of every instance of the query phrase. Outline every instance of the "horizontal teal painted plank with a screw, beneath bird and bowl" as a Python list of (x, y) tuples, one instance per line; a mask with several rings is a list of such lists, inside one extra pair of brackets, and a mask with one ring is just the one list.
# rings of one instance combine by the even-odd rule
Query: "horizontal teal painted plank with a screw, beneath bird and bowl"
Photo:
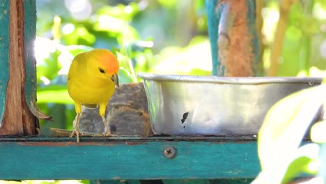
[[(256, 141), (247, 139), (22, 139), (0, 139), (0, 179), (254, 178), (260, 171)], [(176, 148), (175, 158), (164, 157), (166, 146)]]

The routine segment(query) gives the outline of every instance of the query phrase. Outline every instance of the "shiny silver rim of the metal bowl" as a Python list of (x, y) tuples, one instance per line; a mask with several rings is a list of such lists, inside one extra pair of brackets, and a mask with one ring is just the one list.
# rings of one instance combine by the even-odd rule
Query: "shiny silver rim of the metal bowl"
[(322, 77), (217, 77), (198, 75), (160, 75), (146, 72), (138, 72), (137, 76), (145, 80), (160, 82), (208, 82), (218, 84), (280, 84), (280, 83), (304, 83), (321, 84)]

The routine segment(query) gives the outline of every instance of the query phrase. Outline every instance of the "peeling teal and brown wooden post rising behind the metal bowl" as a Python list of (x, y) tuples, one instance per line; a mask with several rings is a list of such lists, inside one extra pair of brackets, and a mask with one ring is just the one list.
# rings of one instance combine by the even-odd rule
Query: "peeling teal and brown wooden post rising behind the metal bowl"
[(205, 0), (212, 75), (256, 76), (259, 43), (255, 1)]

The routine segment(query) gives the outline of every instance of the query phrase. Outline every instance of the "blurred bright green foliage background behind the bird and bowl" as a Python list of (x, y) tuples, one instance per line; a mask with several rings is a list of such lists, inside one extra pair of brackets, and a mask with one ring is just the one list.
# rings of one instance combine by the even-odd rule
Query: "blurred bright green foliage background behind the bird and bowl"
[[(284, 2), (293, 3), (280, 11)], [(38, 106), (55, 121), (41, 122), (42, 126), (72, 130), (75, 109), (66, 76), (74, 56), (95, 47), (111, 49), (118, 56), (121, 83), (139, 82), (137, 72), (211, 75), (203, 0), (36, 3)], [(257, 1), (257, 10), (266, 75), (276, 67), (278, 76), (325, 76), (325, 0)], [(284, 13), (286, 24), (278, 24)], [(282, 31), (284, 39), (275, 41)]]

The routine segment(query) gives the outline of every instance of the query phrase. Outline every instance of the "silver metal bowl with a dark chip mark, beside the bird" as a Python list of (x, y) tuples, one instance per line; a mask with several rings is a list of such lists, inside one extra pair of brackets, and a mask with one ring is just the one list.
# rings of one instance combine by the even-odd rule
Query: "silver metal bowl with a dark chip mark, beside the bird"
[[(275, 102), (317, 77), (199, 77), (138, 73), (153, 131), (165, 135), (256, 135)], [(284, 112), (286, 113), (286, 112)]]

